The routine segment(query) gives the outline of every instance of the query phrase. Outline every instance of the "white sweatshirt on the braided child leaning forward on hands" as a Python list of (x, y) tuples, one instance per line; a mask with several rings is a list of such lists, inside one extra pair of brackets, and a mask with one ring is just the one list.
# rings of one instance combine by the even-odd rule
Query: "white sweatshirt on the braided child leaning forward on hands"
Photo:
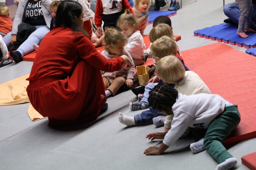
[(164, 144), (171, 146), (188, 127), (207, 129), (212, 120), (225, 109), (225, 99), (213, 94), (178, 94), (172, 107), (174, 114), (171, 129), (164, 137)]

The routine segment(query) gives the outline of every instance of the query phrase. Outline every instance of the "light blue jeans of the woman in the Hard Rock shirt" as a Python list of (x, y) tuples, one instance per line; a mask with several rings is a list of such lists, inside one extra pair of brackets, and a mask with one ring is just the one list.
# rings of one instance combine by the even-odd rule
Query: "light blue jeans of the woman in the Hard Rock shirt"
[[(46, 25), (35, 26), (36, 31), (29, 35), (28, 39), (24, 41), (16, 51), (19, 51), (21, 56), (31, 53), (34, 51), (33, 44), (39, 45), (44, 36), (49, 32), (48, 27)], [(10, 47), (10, 38), (12, 36), (12, 32), (9, 32), (3, 37), (4, 43), (7, 48)]]

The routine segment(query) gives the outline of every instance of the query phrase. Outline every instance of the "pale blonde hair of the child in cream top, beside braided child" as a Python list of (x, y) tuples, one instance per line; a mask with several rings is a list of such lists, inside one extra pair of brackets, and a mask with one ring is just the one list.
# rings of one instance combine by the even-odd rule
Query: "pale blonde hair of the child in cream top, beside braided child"
[(185, 75), (185, 68), (176, 56), (161, 58), (156, 64), (156, 74), (169, 83), (177, 83)]

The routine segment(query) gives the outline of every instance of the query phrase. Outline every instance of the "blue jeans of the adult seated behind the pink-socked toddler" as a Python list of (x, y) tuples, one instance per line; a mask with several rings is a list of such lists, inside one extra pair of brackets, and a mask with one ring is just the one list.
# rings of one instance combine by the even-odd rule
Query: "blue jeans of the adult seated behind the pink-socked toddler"
[[(256, 22), (256, 4), (252, 3), (253, 6), (253, 13), (252, 13), (252, 21), (254, 21), (254, 24)], [(239, 9), (239, 6), (236, 3), (229, 3), (226, 4), (223, 8), (224, 14), (230, 18), (234, 23), (238, 24), (239, 18), (241, 16), (241, 11)]]

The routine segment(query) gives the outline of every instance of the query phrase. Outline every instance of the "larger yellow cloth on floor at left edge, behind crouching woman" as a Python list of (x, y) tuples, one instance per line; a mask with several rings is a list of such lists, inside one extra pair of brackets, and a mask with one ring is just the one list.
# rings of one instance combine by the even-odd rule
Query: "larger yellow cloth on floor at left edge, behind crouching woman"
[(0, 106), (30, 102), (27, 94), (29, 74), (0, 84)]

